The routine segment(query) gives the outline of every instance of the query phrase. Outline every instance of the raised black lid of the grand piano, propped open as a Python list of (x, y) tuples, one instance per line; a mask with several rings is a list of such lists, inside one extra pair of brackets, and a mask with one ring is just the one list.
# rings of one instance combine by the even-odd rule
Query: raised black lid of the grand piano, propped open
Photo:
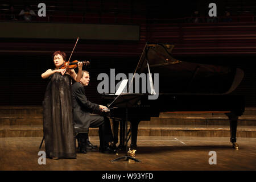
[[(173, 48), (171, 44), (146, 44), (134, 72), (147, 74), (148, 63), (153, 81), (158, 81), (154, 85), (159, 85), (159, 93), (229, 94), (242, 81), (244, 73), (239, 68), (176, 60), (171, 56)], [(159, 80), (154, 80), (155, 73)]]

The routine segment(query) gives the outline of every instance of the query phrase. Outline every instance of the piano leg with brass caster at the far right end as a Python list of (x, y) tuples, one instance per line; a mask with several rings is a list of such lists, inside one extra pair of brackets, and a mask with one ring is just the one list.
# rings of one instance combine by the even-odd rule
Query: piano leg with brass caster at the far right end
[(238, 116), (234, 113), (226, 113), (226, 115), (229, 117), (229, 124), (230, 124), (230, 142), (233, 144), (233, 148), (238, 150), (239, 146), (236, 143), (237, 142), (237, 119)]

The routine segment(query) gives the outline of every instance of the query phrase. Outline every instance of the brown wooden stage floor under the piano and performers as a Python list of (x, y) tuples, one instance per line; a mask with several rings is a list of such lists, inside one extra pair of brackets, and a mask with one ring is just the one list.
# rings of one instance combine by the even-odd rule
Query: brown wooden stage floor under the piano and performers
[[(110, 162), (123, 152), (102, 154), (88, 151), (77, 159), (46, 159), (38, 164), (42, 137), (0, 138), (0, 170), (86, 170), (86, 171), (172, 171), (172, 170), (256, 170), (256, 138), (237, 138), (234, 150), (228, 137), (138, 137), (135, 158), (141, 160)], [(98, 137), (90, 137), (99, 144)], [(210, 151), (215, 151), (217, 164), (209, 164)]]

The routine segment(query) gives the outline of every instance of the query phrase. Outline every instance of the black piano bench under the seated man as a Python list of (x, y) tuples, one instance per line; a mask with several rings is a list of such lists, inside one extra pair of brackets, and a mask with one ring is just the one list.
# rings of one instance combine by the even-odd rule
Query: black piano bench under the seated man
[(75, 126), (75, 134), (78, 143), (78, 148), (81, 153), (86, 154), (86, 141), (88, 139), (89, 129), (81, 129)]

